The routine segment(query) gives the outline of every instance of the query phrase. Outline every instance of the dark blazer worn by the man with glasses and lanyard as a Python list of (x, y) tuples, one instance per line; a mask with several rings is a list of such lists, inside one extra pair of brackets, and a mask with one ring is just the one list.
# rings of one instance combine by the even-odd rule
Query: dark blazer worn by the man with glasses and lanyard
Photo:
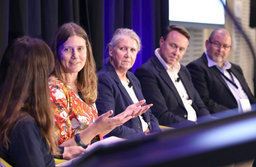
[[(196, 90), (211, 113), (238, 107), (235, 97), (218, 69), (208, 67), (208, 60), (205, 53), (197, 60), (189, 63), (187, 68), (191, 73)], [(250, 103), (256, 103), (255, 97), (245, 81), (242, 69), (238, 65), (231, 63), (231, 71), (239, 80)]]

